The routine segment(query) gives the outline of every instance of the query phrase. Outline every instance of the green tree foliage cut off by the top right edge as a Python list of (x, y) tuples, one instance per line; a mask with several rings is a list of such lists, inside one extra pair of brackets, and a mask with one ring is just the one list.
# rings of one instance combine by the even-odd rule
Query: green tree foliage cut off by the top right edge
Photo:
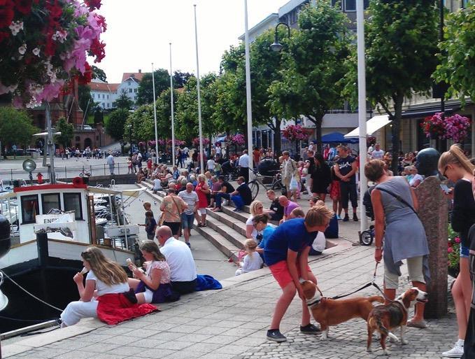
[(442, 54), (434, 77), (450, 85), (448, 95), (475, 99), (475, 4), (467, 10), (449, 13), (444, 41), (439, 43)]

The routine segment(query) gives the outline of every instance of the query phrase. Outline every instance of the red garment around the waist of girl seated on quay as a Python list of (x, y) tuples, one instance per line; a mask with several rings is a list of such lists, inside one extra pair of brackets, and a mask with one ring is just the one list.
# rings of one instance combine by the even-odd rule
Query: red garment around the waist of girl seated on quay
[(97, 318), (107, 324), (118, 324), (158, 311), (152, 304), (133, 304), (122, 293), (101, 295), (97, 301)]

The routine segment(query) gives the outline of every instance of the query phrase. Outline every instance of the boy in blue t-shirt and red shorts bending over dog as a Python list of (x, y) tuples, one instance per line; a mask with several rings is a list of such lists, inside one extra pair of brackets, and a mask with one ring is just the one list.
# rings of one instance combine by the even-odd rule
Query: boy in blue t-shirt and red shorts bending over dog
[(300, 331), (306, 334), (318, 334), (320, 330), (310, 323), (310, 312), (306, 305), (299, 279), (313, 281), (316, 278), (309, 267), (309, 251), (318, 232), (325, 232), (333, 212), (325, 206), (314, 206), (305, 218), (285, 221), (277, 227), (271, 237), (265, 241), (264, 261), (272, 275), (282, 288), (267, 338), (274, 342), (285, 342), (279, 326), (290, 303), (299, 293), (302, 299), (302, 325)]

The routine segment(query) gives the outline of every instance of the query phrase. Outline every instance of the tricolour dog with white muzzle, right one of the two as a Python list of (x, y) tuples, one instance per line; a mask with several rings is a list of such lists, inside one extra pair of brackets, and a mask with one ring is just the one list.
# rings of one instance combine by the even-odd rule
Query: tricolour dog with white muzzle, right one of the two
[(406, 330), (407, 314), (409, 307), (416, 302), (427, 302), (427, 293), (414, 287), (406, 290), (402, 295), (397, 297), (397, 300), (388, 304), (378, 305), (371, 310), (368, 317), (368, 340), (366, 351), (371, 352), (371, 340), (373, 332), (379, 332), (381, 337), (379, 342), (381, 348), (386, 356), (390, 354), (390, 351), (386, 349), (386, 338), (390, 337), (395, 342), (399, 342), (399, 339), (390, 332), (393, 328), (401, 328), (401, 342), (407, 344), (404, 339), (404, 331)]

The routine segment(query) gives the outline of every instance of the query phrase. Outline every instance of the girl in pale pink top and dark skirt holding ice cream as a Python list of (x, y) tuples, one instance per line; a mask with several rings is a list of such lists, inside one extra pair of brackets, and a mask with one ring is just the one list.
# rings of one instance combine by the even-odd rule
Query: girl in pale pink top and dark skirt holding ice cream
[(147, 271), (129, 263), (134, 278), (129, 278), (129, 286), (134, 289), (137, 301), (142, 303), (174, 302), (180, 298), (173, 292), (170, 283), (170, 267), (165, 256), (154, 241), (143, 241), (140, 246), (143, 258), (148, 262)]

